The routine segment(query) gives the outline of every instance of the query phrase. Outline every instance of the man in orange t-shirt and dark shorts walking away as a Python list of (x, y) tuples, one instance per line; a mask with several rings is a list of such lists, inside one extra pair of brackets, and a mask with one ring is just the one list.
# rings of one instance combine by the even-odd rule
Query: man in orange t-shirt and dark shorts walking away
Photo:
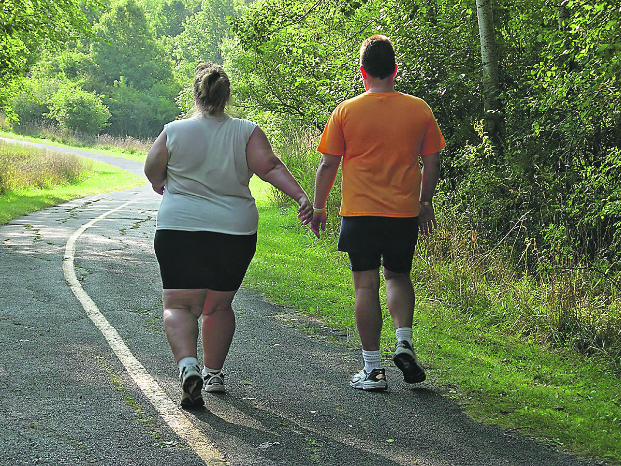
[[(435, 229), (432, 198), (445, 146), (433, 112), (422, 100), (394, 90), (392, 43), (372, 35), (360, 47), (365, 93), (337, 106), (319, 143), (311, 229), (325, 230), (325, 201), (342, 167), (338, 250), (347, 252), (355, 287), (354, 313), (365, 367), (351, 377), (360, 390), (386, 390), (379, 338), (379, 267), (396, 328), (392, 360), (406, 383), (425, 380), (412, 349), (414, 289), (410, 278), (419, 230)], [(422, 170), (420, 164), (422, 163)]]

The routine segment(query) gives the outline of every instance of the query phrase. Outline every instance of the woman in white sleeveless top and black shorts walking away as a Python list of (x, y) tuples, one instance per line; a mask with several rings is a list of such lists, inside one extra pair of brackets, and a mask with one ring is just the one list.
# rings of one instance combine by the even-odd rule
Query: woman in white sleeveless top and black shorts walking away
[[(231, 303), (255, 254), (258, 211), (253, 173), (299, 204), (302, 225), (312, 204), (255, 123), (225, 114), (229, 77), (219, 65), (194, 70), (194, 116), (164, 126), (145, 162), (163, 194), (155, 255), (163, 285), (164, 329), (181, 378), (181, 406), (203, 406), (202, 388), (224, 391), (222, 366), (235, 332)], [(197, 360), (202, 315), (204, 368)]]

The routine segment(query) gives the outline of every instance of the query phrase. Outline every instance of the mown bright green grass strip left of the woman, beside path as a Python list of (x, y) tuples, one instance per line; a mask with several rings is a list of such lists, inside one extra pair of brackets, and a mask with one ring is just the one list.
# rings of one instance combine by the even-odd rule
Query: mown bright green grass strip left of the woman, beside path
[(93, 161), (88, 178), (75, 185), (61, 185), (52, 189), (22, 189), (0, 195), (0, 224), (46, 207), (71, 199), (137, 188), (145, 180), (134, 173)]

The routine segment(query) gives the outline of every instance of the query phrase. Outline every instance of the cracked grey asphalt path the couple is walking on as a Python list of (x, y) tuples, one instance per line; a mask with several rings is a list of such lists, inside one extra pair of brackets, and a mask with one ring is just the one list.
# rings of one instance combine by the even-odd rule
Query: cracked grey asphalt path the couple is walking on
[[(81, 155), (142, 175), (139, 162)], [(359, 349), (320, 324), (302, 332), (303, 316), (243, 287), (227, 393), (179, 409), (152, 246), (159, 199), (144, 186), (0, 226), (0, 464), (604, 464), (478, 424), (392, 363), (388, 391), (353, 390)]]

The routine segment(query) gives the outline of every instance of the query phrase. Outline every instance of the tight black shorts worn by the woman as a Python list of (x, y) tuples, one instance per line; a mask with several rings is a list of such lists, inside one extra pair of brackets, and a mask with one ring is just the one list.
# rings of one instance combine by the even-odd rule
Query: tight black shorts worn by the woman
[(157, 230), (155, 255), (165, 290), (235, 291), (256, 250), (256, 233)]

